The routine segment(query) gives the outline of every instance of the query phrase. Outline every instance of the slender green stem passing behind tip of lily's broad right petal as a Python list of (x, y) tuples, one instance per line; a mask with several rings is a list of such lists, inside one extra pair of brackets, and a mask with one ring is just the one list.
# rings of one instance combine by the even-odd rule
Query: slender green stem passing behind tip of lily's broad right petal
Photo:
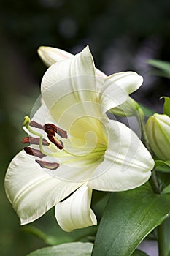
[[(145, 129), (144, 113), (141, 108), (138, 109), (138, 113), (139, 113), (138, 118), (139, 118), (139, 122), (141, 124), (141, 129), (142, 129), (142, 137), (144, 140), (144, 145), (146, 146), (147, 150), (150, 151), (150, 154), (152, 154), (152, 149), (150, 148), (150, 143), (147, 139), (147, 132)], [(161, 189), (158, 184), (158, 178), (157, 178), (155, 169), (152, 170), (152, 175), (150, 177), (149, 182), (155, 194), (161, 194)]]

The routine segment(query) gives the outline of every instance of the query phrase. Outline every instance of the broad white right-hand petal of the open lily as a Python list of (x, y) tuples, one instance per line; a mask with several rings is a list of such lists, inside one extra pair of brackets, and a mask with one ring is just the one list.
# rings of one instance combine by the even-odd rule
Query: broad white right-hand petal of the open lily
[(87, 186), (104, 191), (123, 191), (144, 184), (154, 161), (136, 134), (124, 124), (105, 119), (108, 148)]

